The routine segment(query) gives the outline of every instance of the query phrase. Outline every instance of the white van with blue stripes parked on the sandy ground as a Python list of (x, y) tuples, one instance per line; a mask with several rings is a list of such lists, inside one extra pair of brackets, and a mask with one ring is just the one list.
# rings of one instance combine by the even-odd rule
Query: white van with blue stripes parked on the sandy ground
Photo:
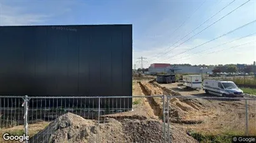
[(244, 92), (232, 81), (205, 79), (202, 86), (206, 93), (220, 97), (244, 97)]

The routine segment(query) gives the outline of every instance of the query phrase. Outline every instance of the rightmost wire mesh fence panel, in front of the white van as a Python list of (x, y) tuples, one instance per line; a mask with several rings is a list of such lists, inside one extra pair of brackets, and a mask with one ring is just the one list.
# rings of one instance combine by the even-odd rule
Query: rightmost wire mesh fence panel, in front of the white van
[(255, 99), (171, 97), (169, 101), (171, 136), (184, 131), (199, 142), (232, 142), (232, 136), (248, 131), (256, 135)]

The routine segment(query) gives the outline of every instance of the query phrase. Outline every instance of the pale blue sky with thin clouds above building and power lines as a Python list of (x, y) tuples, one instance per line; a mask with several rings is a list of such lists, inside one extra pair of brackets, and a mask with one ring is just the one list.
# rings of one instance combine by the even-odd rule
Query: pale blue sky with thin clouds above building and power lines
[[(247, 2), (247, 4), (227, 15), (224, 19), (219, 20), (225, 14), (233, 11), (246, 1), (236, 0), (204, 25), (194, 30), (194, 28), (201, 25), (231, 1), (1, 0), (0, 25), (133, 24), (133, 64), (137, 64), (137, 67), (140, 64), (136, 63), (138, 61), (136, 58), (141, 56), (147, 58), (148, 63), (144, 63), (146, 67), (151, 63), (252, 64), (253, 61), (256, 61), (255, 35), (224, 46), (217, 45), (256, 32), (256, 22), (240, 30), (236, 30), (229, 35), (211, 41), (206, 45), (187, 51), (190, 48), (194, 48), (237, 27), (256, 20), (255, 0)], [(216, 22), (217, 20), (219, 22)], [(196, 35), (214, 22), (216, 24)], [(183, 25), (178, 28), (181, 24)], [(194, 32), (187, 35), (192, 30)], [(185, 35), (187, 37), (183, 38)], [(193, 35), (196, 36), (192, 37)], [(180, 40), (181, 38), (183, 40)], [(191, 39), (188, 40), (189, 38)], [(252, 43), (234, 49), (224, 50), (248, 42)], [(171, 49), (169, 47), (174, 43), (176, 45), (171, 48), (177, 47), (169, 51)], [(211, 48), (212, 46), (217, 47)], [(211, 49), (206, 50), (206, 48)], [(166, 53), (164, 50), (169, 52)], [(194, 54), (202, 50), (206, 51)], [(207, 54), (218, 50), (224, 51)], [(183, 53), (184, 51), (186, 52)], [(176, 54), (179, 55), (176, 56)]]

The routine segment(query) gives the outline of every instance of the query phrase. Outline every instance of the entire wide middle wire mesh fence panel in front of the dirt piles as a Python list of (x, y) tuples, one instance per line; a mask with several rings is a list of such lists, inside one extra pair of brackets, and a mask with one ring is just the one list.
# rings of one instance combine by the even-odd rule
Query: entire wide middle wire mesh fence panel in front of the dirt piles
[(31, 97), (29, 142), (166, 142), (163, 104), (163, 95)]

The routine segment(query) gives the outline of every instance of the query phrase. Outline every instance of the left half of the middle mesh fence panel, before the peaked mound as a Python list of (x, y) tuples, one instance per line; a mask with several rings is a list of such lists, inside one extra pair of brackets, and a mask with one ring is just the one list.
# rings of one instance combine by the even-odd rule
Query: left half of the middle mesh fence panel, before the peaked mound
[[(29, 100), (29, 132), (33, 136), (30, 142), (75, 142), (80, 136), (86, 139), (91, 131), (88, 124), (97, 123), (97, 107), (98, 98), (32, 97)], [(41, 131), (33, 132), (38, 129), (38, 122), (42, 123)], [(34, 124), (36, 129), (33, 129)]]

